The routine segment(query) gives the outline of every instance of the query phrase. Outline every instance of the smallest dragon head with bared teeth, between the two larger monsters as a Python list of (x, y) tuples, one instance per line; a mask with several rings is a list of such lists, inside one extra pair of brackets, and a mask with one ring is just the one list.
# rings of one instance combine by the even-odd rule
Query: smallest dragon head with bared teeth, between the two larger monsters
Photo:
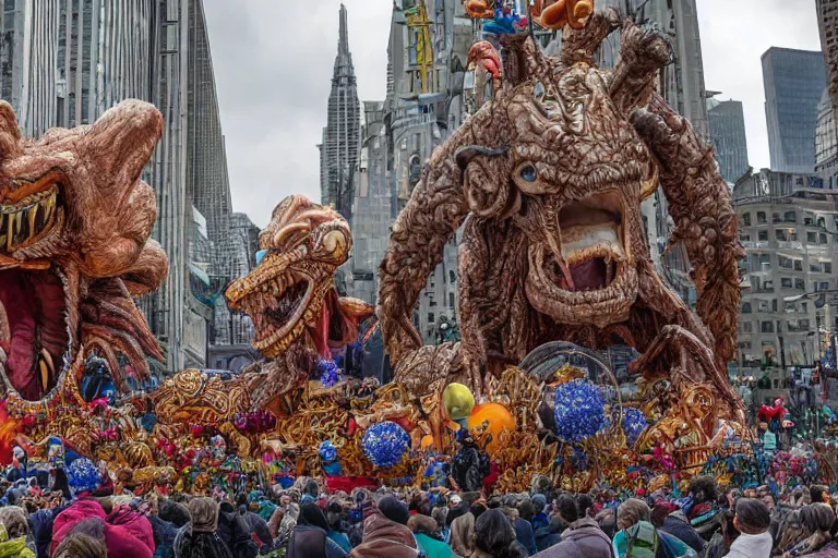
[(259, 265), (225, 294), (231, 310), (253, 320), (254, 349), (273, 360), (263, 372), (277, 375), (260, 380), (254, 407), (299, 385), (316, 357), (356, 341), (358, 320), (372, 315), (369, 304), (335, 290), (351, 246), (349, 223), (331, 207), (289, 196), (274, 209), (259, 236)]

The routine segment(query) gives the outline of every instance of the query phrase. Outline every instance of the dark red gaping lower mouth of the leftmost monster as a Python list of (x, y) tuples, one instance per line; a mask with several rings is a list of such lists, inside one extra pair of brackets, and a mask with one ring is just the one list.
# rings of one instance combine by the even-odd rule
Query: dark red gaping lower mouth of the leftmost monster
[(58, 272), (0, 271), (0, 374), (24, 399), (36, 401), (56, 386), (71, 343)]

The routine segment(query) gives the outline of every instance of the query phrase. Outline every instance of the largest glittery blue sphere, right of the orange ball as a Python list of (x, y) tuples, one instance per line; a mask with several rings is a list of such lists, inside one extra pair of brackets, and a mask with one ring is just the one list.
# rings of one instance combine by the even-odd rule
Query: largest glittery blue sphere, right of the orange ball
[(555, 388), (555, 430), (559, 439), (578, 444), (606, 424), (602, 391), (589, 381), (574, 379)]

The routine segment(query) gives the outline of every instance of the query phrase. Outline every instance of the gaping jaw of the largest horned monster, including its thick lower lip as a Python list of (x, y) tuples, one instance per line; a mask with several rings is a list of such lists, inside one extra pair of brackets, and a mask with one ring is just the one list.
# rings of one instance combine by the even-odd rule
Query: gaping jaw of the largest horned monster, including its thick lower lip
[[(630, 264), (625, 238), (625, 210), (616, 190), (571, 202), (559, 213), (556, 250), (544, 244), (530, 247), (527, 292), (541, 313), (571, 324), (590, 323), (577, 308), (618, 306), (634, 301), (631, 291), (636, 270)], [(604, 314), (603, 314), (604, 315)], [(603, 324), (597, 324), (603, 325)]]

